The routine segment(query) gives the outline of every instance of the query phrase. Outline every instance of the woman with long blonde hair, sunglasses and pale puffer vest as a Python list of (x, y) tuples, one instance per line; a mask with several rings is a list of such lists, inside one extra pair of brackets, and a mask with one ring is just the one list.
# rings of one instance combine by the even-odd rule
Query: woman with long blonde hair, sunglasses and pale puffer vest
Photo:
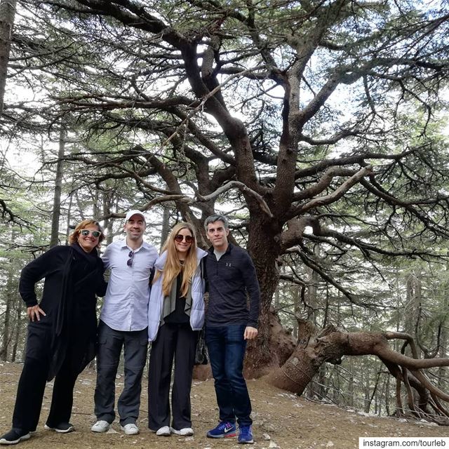
[[(173, 227), (154, 266), (156, 274), (149, 298), (148, 427), (157, 436), (193, 435), (190, 389), (198, 330), (204, 322), (204, 286), (201, 259), (207, 254), (196, 246), (189, 223)], [(170, 381), (175, 361), (171, 400)]]

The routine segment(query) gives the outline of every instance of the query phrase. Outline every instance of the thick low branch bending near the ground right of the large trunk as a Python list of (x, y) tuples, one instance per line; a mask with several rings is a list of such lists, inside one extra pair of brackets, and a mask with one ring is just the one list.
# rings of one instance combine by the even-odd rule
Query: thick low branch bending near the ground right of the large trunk
[[(449, 366), (449, 358), (417, 358), (413, 338), (406, 333), (347, 333), (328, 326), (324, 330), (298, 319), (298, 344), (288, 361), (268, 376), (276, 387), (302, 394), (322, 363), (339, 364), (344, 356), (373, 355), (380, 358), (389, 373), (396, 378), (396, 407), (403, 413), (401, 385), (406, 389), (408, 408), (415, 417), (426, 417), (438, 424), (449, 425), (448, 412), (441, 401), (449, 402), (449, 394), (434, 386), (424, 371)], [(402, 339), (412, 347), (414, 357), (408, 357), (389, 347), (389, 340)], [(416, 391), (417, 398), (413, 391)], [(434, 410), (430, 413), (429, 406)]]

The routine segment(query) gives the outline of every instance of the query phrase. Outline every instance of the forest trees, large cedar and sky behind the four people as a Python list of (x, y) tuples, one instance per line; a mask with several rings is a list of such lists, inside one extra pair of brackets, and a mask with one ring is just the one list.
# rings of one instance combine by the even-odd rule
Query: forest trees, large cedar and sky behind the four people
[(447, 424), (448, 19), (444, 0), (0, 0), (0, 359), (23, 356), (21, 267), (76, 222), (109, 243), (139, 208), (157, 247), (179, 220), (207, 247), (220, 212), (261, 286), (248, 377)]

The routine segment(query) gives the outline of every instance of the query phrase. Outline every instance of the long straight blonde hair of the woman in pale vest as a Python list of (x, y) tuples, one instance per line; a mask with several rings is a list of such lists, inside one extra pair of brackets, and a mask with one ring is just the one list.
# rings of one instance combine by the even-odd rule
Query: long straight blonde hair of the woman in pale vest
[[(179, 257), (177, 257), (176, 246), (175, 246), (175, 236), (180, 232), (181, 229), (189, 229), (192, 233), (192, 244), (187, 252), (186, 259), (182, 265)], [(170, 290), (173, 281), (176, 279), (180, 272), (183, 272), (182, 284), (181, 284), (181, 294), (182, 296), (187, 296), (189, 291), (189, 286), (192, 283), (192, 278), (196, 272), (198, 260), (196, 257), (196, 237), (195, 229), (190, 223), (181, 222), (173, 227), (170, 234), (168, 235), (165, 243), (163, 243), (162, 252), (167, 251), (166, 263), (163, 266), (163, 278), (162, 278), (162, 293), (164, 296), (170, 295)], [(158, 270), (156, 276), (154, 276), (154, 281), (161, 276), (161, 271)]]

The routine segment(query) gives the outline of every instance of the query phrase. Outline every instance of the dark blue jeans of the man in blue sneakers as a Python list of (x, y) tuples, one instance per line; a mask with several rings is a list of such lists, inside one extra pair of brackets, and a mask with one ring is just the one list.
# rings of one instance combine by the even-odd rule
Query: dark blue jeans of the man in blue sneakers
[(246, 324), (206, 326), (206, 344), (215, 379), (215, 394), (220, 409), (220, 421), (237, 422), (241, 426), (253, 423), (251, 401), (243, 379), (243, 357)]

